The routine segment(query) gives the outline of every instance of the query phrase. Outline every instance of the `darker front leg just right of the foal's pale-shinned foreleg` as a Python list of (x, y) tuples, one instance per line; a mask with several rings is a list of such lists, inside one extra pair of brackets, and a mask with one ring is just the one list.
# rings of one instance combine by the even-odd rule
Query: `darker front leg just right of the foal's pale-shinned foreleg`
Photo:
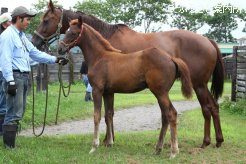
[(114, 94), (104, 94), (106, 135), (104, 138), (105, 146), (112, 146), (114, 143), (113, 115), (114, 115)]

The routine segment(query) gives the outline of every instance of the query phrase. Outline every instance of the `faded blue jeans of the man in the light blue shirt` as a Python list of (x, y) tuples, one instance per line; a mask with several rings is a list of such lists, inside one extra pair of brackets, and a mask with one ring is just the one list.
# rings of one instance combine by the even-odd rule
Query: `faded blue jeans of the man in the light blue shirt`
[[(14, 80), (17, 87), (15, 96), (7, 94), (7, 111), (4, 119), (4, 125), (17, 124), (25, 113), (26, 98), (28, 90), (28, 73), (14, 72)], [(5, 82), (5, 89), (7, 90), (7, 82)]]

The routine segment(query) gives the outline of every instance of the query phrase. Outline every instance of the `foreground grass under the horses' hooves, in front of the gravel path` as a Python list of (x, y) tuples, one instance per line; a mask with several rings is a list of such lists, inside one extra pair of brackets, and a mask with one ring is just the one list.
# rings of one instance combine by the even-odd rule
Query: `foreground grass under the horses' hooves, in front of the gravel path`
[[(116, 132), (112, 148), (100, 145), (89, 155), (92, 134), (67, 135), (59, 137), (18, 137), (18, 149), (0, 151), (0, 163), (245, 163), (246, 119), (221, 110), (221, 123), (225, 142), (215, 148), (212, 129), (212, 143), (200, 149), (203, 136), (203, 118), (199, 110), (185, 112), (179, 118), (179, 155), (169, 160), (170, 133), (167, 132), (164, 149), (153, 155), (159, 131)], [(104, 134), (101, 134), (100, 141)], [(1, 149), (1, 148), (0, 148)]]

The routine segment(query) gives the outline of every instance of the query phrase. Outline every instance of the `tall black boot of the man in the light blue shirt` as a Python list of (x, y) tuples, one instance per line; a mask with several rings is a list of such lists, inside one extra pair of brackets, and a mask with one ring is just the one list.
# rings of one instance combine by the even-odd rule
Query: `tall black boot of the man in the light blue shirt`
[(18, 125), (3, 125), (3, 143), (5, 148), (15, 148), (15, 138)]

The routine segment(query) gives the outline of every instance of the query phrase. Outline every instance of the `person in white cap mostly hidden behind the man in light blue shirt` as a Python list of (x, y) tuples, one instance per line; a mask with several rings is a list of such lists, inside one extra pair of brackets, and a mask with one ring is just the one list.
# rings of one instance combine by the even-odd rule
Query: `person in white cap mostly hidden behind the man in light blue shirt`
[[(11, 25), (11, 20), (12, 17), (10, 13), (3, 13), (0, 16), (0, 35), (9, 25)], [(3, 133), (2, 125), (6, 113), (6, 96), (3, 91), (3, 82), (4, 82), (4, 78), (2, 74), (2, 69), (0, 67), (0, 136)]]

